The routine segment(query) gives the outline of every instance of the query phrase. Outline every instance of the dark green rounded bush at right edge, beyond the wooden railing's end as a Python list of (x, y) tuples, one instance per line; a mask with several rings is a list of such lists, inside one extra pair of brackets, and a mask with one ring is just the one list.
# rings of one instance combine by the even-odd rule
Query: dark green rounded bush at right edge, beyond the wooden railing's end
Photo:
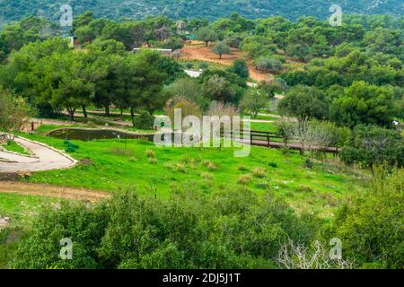
[(347, 164), (404, 166), (404, 139), (394, 130), (378, 126), (356, 126), (340, 153)]

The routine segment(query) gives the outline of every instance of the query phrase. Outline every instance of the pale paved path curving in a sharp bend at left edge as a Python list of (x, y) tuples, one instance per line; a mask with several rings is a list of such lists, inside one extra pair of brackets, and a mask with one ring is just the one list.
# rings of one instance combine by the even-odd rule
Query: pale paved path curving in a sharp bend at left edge
[(71, 168), (77, 163), (64, 152), (57, 151), (44, 143), (22, 137), (15, 137), (14, 141), (30, 151), (32, 156), (0, 151), (0, 172), (62, 170)]

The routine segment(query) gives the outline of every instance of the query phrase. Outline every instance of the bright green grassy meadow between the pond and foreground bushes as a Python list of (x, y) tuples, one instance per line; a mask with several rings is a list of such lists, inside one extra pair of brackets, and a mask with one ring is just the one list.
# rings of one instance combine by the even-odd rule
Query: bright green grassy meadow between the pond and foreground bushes
[[(44, 132), (42, 130), (42, 132)], [(64, 141), (41, 135), (27, 137), (64, 150)], [(298, 152), (251, 147), (250, 156), (235, 158), (232, 148), (175, 148), (154, 146), (142, 140), (71, 141), (71, 155), (80, 163), (70, 170), (34, 173), (24, 179), (65, 187), (115, 191), (136, 187), (139, 194), (167, 198), (176, 188), (203, 194), (217, 189), (245, 187), (262, 194), (272, 191), (296, 210), (329, 216), (345, 196), (366, 187), (360, 173), (316, 164), (303, 168)]]

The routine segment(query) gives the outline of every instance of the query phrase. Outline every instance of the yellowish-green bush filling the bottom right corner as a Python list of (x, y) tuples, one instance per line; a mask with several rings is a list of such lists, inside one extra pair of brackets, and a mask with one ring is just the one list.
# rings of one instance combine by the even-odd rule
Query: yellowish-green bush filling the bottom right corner
[(340, 208), (332, 237), (362, 268), (404, 268), (404, 173), (376, 170), (373, 187)]

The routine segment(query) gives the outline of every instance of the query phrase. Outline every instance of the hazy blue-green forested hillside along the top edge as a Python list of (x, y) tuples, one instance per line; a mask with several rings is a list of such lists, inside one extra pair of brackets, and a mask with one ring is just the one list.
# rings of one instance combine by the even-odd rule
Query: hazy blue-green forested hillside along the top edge
[[(204, 17), (215, 20), (238, 12), (249, 18), (281, 15), (296, 19), (300, 16), (326, 18), (331, 0), (1, 0), (0, 22), (20, 20), (23, 16), (43, 15), (55, 20), (62, 4), (70, 4), (74, 13), (92, 10), (97, 17), (110, 19), (144, 18), (165, 14), (173, 19)], [(401, 0), (345, 0), (338, 3), (344, 13), (403, 14)]]

